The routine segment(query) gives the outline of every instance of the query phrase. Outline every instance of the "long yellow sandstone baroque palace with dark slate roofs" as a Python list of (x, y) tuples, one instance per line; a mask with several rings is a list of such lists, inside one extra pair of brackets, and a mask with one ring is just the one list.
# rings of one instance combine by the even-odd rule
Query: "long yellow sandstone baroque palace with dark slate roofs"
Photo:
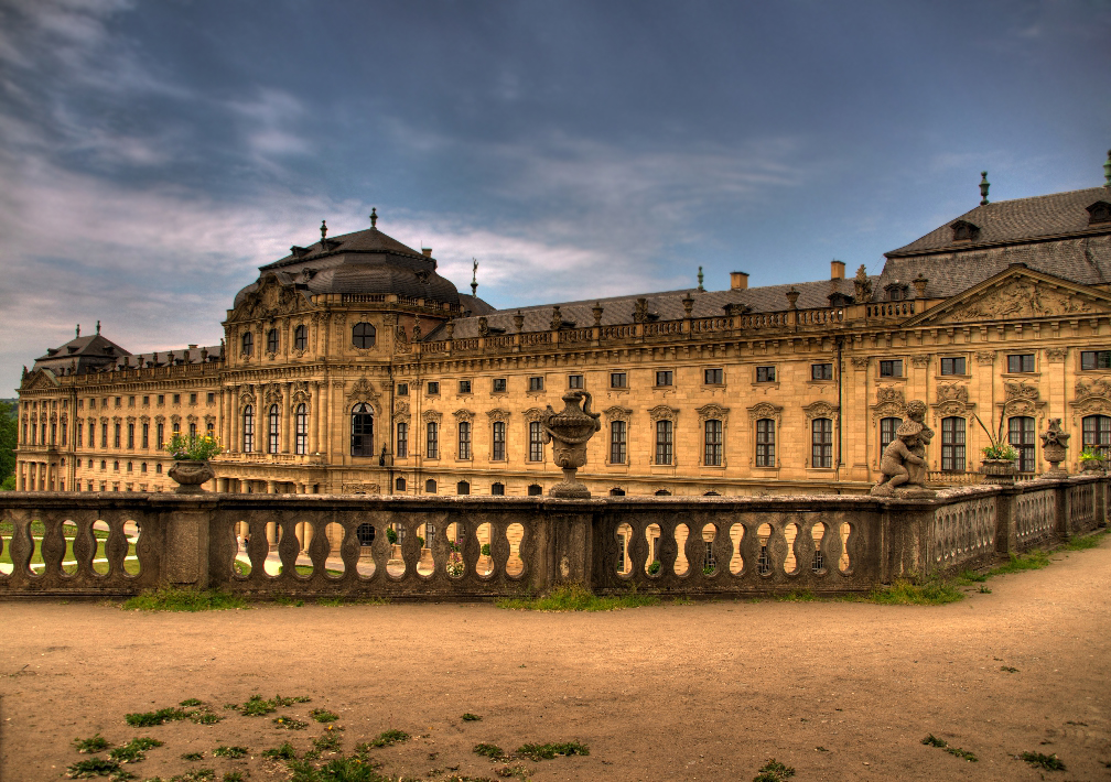
[[(569, 390), (601, 431), (595, 495), (864, 493), (907, 403), (935, 485), (975, 482), (989, 428), (1048, 469), (1061, 419), (1111, 444), (1111, 154), (1104, 187), (980, 205), (880, 274), (496, 310), (377, 228), (321, 237), (239, 291), (219, 345), (133, 354), (97, 333), (20, 385), (18, 488), (171, 491), (163, 444), (212, 433), (219, 492), (543, 494), (540, 424)], [(724, 282), (724, 281), (722, 281)]]

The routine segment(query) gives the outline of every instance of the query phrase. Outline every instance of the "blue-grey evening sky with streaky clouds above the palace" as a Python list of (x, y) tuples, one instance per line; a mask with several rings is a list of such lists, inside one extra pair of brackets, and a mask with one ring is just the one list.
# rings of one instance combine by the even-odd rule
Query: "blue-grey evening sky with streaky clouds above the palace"
[[(499, 307), (819, 279), (1102, 184), (1111, 4), (0, 0), (0, 389), (369, 224)], [(0, 397), (10, 395), (0, 390)]]

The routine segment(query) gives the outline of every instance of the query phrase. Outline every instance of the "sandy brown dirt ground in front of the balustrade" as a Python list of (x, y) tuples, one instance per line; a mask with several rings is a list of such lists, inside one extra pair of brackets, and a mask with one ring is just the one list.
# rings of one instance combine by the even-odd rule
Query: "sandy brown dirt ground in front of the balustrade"
[[(541, 780), (751, 780), (768, 758), (804, 780), (1111, 779), (1111, 538), (1040, 571), (995, 577), (947, 606), (845, 602), (665, 604), (609, 613), (484, 604), (267, 605), (199, 614), (91, 603), (0, 603), (2, 779), (54, 780), (113, 744), (166, 742), (126, 766), (282, 780), (261, 751), (307, 749), (340, 715), (344, 749), (387, 729), (390, 774), (497, 779), (478, 742), (506, 750), (578, 740), (585, 758), (527, 762)], [(1003, 666), (1014, 668), (1009, 672)], [(222, 709), (252, 693), (308, 695), (270, 716)], [(216, 725), (131, 729), (127, 712), (187, 698)], [(463, 722), (472, 712), (481, 721)], [(925, 734), (973, 752), (970, 763)], [(244, 760), (212, 758), (243, 745)], [(820, 749), (821, 748), (821, 749)], [(1055, 753), (1064, 772), (1017, 760)], [(199, 762), (182, 753), (203, 752)], [(327, 756), (327, 755), (326, 755)]]

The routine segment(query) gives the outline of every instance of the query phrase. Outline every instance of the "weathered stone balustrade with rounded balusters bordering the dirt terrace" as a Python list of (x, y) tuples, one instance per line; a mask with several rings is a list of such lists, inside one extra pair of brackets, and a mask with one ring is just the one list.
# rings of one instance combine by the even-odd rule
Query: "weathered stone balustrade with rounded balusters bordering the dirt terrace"
[(568, 582), (599, 593), (867, 592), (1102, 525), (1108, 483), (1084, 475), (919, 500), (4, 492), (0, 595), (129, 595), (159, 583), (434, 600)]

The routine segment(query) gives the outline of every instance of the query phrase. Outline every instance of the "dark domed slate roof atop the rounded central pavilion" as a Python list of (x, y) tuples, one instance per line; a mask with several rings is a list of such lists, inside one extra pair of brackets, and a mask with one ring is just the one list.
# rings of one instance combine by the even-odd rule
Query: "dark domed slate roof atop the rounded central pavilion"
[[(452, 305), (459, 291), (436, 272), (436, 259), (424, 255), (377, 228), (321, 239), (284, 258), (259, 267), (259, 280), (274, 273), (306, 295), (318, 293), (394, 293)], [(259, 281), (236, 294), (233, 307), (257, 290)]]

